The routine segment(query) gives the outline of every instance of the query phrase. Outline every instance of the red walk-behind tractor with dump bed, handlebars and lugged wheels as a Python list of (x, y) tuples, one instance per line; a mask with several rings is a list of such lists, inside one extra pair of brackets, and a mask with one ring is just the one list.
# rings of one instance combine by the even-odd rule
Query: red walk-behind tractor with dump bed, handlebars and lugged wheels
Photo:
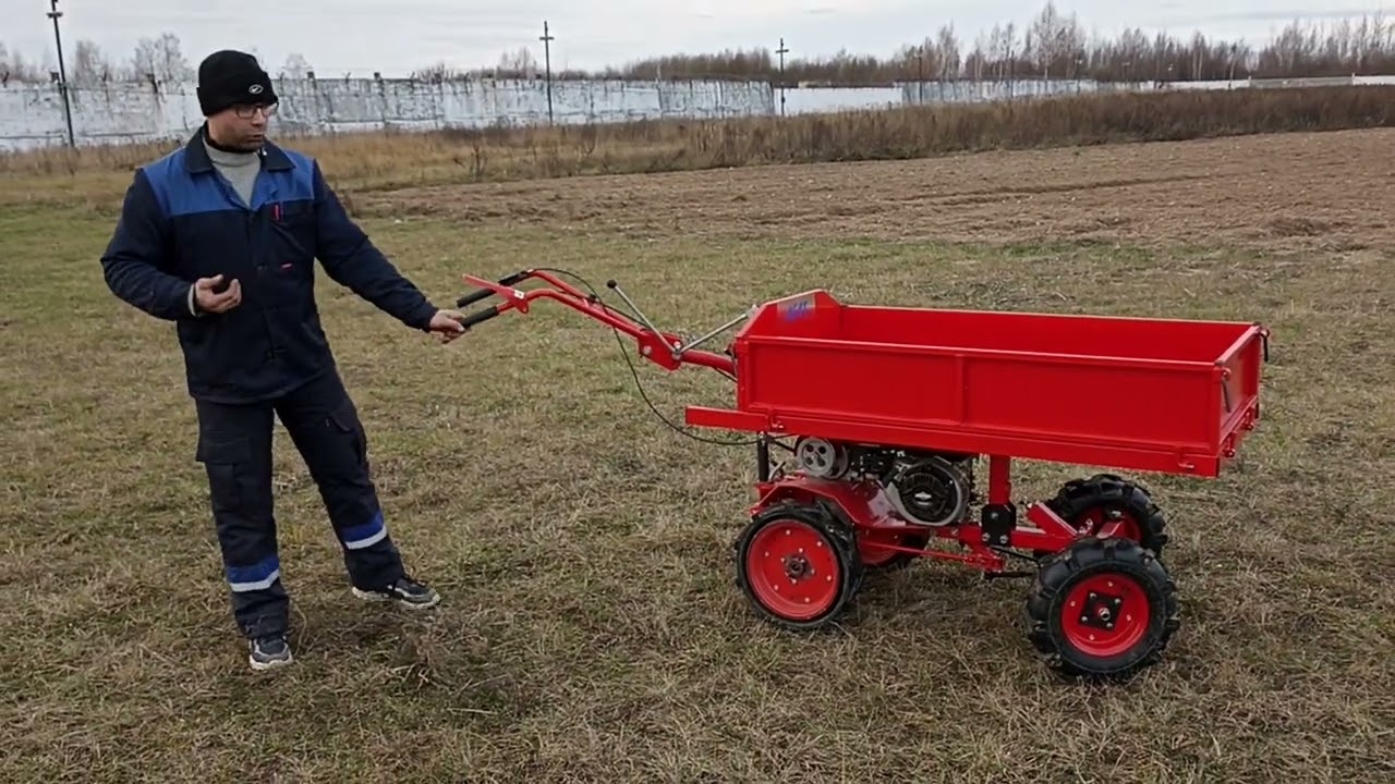
[[(478, 290), (459, 307), (504, 300), (466, 326), (545, 297), (629, 335), (665, 370), (735, 381), (734, 407), (689, 406), (686, 423), (755, 434), (757, 499), (737, 538), (737, 583), (788, 629), (831, 624), (869, 569), (939, 558), (1035, 578), (1027, 635), (1048, 665), (1133, 674), (1161, 660), (1179, 624), (1152, 495), (1098, 473), (1024, 512), (1013, 459), (1215, 477), (1260, 417), (1268, 331), (1256, 324), (858, 307), (812, 290), (685, 342), (614, 280), (633, 315), (559, 269), (463, 278)], [(545, 286), (516, 287), (529, 279)], [(698, 347), (738, 325), (725, 352)], [(773, 445), (788, 465), (771, 467)], [(1007, 572), (1009, 557), (1034, 569)]]

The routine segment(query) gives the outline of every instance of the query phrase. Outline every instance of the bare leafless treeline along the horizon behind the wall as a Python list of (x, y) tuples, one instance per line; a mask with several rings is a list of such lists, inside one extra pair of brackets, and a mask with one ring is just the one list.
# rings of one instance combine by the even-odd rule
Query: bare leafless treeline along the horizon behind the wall
[[(459, 68), (438, 63), (412, 74), (420, 80), (463, 77), (533, 78), (543, 74), (541, 52), (508, 52), (492, 67)], [(174, 33), (141, 39), (124, 59), (107, 57), (93, 42), (78, 40), (67, 56), (68, 81), (92, 85), (106, 81), (177, 82), (194, 68)], [(0, 42), (0, 82), (49, 81), (56, 71), (52, 53), (35, 61)], [(283, 78), (314, 73), (299, 53), (268, 67)], [(826, 57), (787, 54), (783, 63), (770, 49), (728, 50), (714, 54), (671, 54), (636, 60), (594, 71), (552, 71), (554, 80), (763, 80), (783, 84), (884, 85), (914, 80), (1085, 78), (1096, 81), (1212, 81), (1229, 78), (1311, 78), (1350, 74), (1395, 74), (1395, 24), (1382, 14), (1332, 24), (1293, 21), (1262, 46), (1244, 40), (1154, 35), (1130, 29), (1117, 38), (1085, 32), (1074, 13), (1048, 3), (1025, 24), (997, 24), (972, 42), (946, 24), (923, 40), (903, 46), (890, 57), (838, 52)], [(350, 74), (315, 74), (335, 78)], [(353, 74), (367, 77), (370, 74)]]

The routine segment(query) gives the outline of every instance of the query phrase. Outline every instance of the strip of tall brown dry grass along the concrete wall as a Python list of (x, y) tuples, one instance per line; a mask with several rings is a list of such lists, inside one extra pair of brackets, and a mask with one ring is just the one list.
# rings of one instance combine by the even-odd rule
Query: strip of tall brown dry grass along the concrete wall
[[(294, 144), (315, 155), (340, 188), (354, 193), (1382, 127), (1395, 127), (1395, 86), (1066, 95), (790, 117), (350, 134)], [(109, 202), (120, 197), (131, 167), (177, 144), (0, 155), (0, 176), (10, 186), (0, 193), (0, 205), (54, 198)]]

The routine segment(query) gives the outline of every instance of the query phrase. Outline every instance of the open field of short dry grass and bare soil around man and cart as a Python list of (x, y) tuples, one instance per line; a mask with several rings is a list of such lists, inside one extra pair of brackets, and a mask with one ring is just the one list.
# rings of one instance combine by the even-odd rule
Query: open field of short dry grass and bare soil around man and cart
[[(279, 438), (300, 661), (254, 675), (173, 331), (102, 282), (128, 173), (11, 170), (0, 780), (1389, 781), (1392, 149), (1395, 131), (1360, 130), (418, 187), (346, 177), (374, 239), (442, 304), (465, 293), (462, 272), (545, 265), (614, 278), (691, 333), (815, 286), (855, 303), (1269, 325), (1264, 421), (1237, 465), (1215, 481), (1141, 477), (1169, 519), (1183, 626), (1163, 664), (1110, 688), (1038, 664), (1024, 580), (953, 565), (869, 579), (836, 633), (762, 625), (730, 550), (753, 453), (656, 419), (603, 326), (544, 303), (442, 347), (325, 279), (389, 525), (445, 601), (430, 617), (357, 603)], [(640, 365), (639, 379), (672, 421), (731, 393), (702, 368)], [(850, 384), (819, 368), (808, 381)], [(1016, 491), (1092, 470), (1021, 465)]]

